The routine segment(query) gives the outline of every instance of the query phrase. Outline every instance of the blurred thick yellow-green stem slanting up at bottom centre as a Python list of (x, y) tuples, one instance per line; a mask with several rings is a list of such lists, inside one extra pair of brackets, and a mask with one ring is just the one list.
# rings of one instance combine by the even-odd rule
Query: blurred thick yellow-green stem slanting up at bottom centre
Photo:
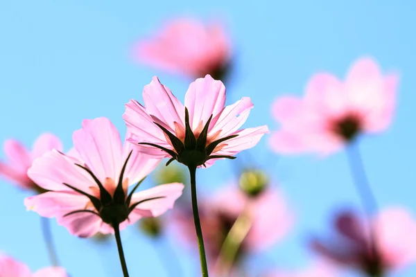
[(234, 260), (252, 227), (252, 217), (250, 215), (250, 202), (245, 204), (244, 211), (239, 215), (232, 228), (229, 230), (227, 237), (223, 242), (218, 255), (216, 269), (219, 270), (220, 276), (229, 276)]

